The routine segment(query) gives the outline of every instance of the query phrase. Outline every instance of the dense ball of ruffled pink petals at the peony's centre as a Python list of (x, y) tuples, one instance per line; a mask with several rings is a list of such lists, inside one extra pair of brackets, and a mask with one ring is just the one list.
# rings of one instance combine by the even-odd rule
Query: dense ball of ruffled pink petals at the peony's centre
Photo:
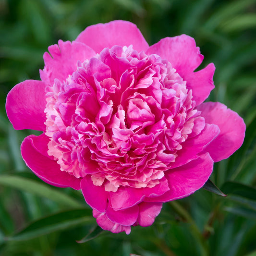
[(198, 115), (186, 83), (158, 55), (114, 46), (47, 88), (48, 154), (95, 185), (153, 187)]

